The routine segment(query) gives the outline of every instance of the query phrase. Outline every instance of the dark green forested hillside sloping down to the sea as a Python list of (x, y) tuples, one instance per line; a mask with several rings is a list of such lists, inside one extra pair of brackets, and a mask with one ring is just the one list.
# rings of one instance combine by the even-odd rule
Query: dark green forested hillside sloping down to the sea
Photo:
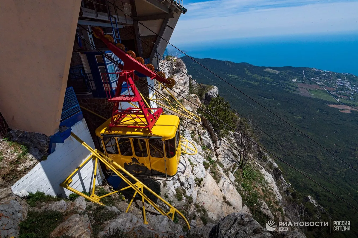
[[(353, 169), (189, 57), (182, 59), (194, 80), (216, 85), (219, 94), (241, 116), (274, 138), (262, 132), (260, 143), (264, 147), (358, 207), (358, 172), (355, 171), (358, 169), (358, 77), (305, 67), (258, 67), (195, 59), (319, 142)], [(286, 164), (277, 162), (294, 188), (312, 194), (333, 219), (351, 221), (352, 229), (356, 229), (356, 209)], [(346, 235), (349, 237), (352, 233)]]

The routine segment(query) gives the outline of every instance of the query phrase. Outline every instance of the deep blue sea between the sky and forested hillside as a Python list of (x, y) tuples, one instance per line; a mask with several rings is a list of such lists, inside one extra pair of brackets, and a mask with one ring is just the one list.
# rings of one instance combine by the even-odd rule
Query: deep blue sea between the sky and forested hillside
[[(358, 32), (184, 42), (175, 46), (195, 58), (267, 67), (311, 67), (358, 76)], [(168, 50), (174, 49), (168, 46)]]

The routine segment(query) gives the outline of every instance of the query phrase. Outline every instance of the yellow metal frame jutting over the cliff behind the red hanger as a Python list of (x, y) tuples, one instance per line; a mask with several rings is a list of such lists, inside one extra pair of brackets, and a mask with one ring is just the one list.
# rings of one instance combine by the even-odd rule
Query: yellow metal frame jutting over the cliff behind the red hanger
[[(180, 102), (173, 96), (173, 94), (171, 94), (171, 93), (169, 92), (169, 90), (166, 89), (166, 87), (164, 87), (164, 85), (163, 85), (162, 83), (160, 83), (160, 82), (158, 82), (158, 83), (159, 83), (159, 86), (160, 86), (161, 88), (164, 88), (165, 91), (171, 96), (171, 98), (173, 98), (173, 99), (175, 100), (175, 102), (170, 101), (168, 98), (163, 97), (163, 96), (159, 95), (159, 94), (156, 93), (156, 92), (154, 92), (151, 97), (145, 96), (147, 99), (149, 99), (150, 101), (153, 101), (153, 102), (159, 104), (159, 105), (162, 106), (162, 107), (165, 107), (165, 108), (168, 109), (168, 110), (174, 111), (174, 112), (176, 112), (176, 113), (178, 113), (178, 114), (180, 114), (180, 115), (182, 115), (182, 116), (184, 116), (184, 117), (187, 117), (187, 118), (189, 118), (189, 119), (191, 119), (191, 120), (194, 120), (194, 121), (196, 121), (196, 122), (200, 122), (200, 121), (201, 121), (201, 118), (200, 118), (199, 116), (195, 115), (193, 112), (189, 112), (189, 111), (187, 110), (187, 108), (185, 108), (185, 107), (182, 105), (182, 103), (180, 103)], [(163, 104), (165, 101), (168, 102), (169, 106)], [(163, 103), (161, 103), (161, 102), (163, 102)], [(174, 104), (175, 106), (173, 106), (173, 104)]]

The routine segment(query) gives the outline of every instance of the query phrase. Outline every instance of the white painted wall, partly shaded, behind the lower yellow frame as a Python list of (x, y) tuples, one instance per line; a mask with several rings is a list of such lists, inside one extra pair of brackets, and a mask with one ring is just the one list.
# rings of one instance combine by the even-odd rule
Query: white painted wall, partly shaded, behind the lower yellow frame
[[(92, 137), (89, 134), (87, 123), (84, 118), (72, 127), (72, 132), (95, 148)], [(12, 187), (12, 191), (24, 196), (27, 192), (42, 191), (53, 196), (68, 196), (72, 192), (61, 187), (64, 181), (88, 156), (90, 152), (71, 136), (63, 144), (57, 144), (55, 151), (46, 160), (38, 163), (29, 173), (17, 181)], [(88, 161), (79, 172), (72, 177), (73, 182), (70, 186), (78, 191), (86, 191), (92, 187), (92, 177), (94, 171), (94, 161)], [(101, 183), (100, 168), (97, 167), (97, 178)]]

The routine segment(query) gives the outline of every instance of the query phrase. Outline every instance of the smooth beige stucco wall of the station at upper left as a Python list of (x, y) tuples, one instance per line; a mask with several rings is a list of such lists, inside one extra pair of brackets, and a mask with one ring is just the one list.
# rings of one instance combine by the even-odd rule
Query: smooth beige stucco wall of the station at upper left
[(0, 112), (12, 129), (52, 135), (61, 120), (81, 0), (0, 5)]

